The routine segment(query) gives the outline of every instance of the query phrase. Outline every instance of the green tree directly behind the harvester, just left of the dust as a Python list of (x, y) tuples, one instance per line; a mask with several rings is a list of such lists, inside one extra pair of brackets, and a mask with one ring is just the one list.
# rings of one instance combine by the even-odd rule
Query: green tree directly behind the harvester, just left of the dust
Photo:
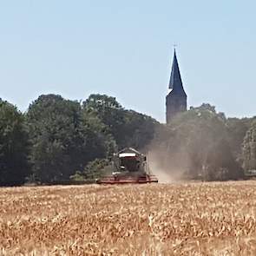
[(154, 137), (158, 124), (148, 115), (126, 110), (114, 97), (90, 95), (83, 102), (83, 112), (95, 128), (111, 135), (119, 149), (125, 147), (145, 148)]

